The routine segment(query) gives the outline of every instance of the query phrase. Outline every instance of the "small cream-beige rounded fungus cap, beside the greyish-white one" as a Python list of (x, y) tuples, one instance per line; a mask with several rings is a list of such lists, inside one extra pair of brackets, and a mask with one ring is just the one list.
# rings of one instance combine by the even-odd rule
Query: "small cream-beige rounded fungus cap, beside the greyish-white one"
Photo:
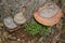
[(24, 24), (26, 22), (26, 18), (24, 17), (23, 13), (17, 13), (14, 16), (14, 22), (18, 25)]

